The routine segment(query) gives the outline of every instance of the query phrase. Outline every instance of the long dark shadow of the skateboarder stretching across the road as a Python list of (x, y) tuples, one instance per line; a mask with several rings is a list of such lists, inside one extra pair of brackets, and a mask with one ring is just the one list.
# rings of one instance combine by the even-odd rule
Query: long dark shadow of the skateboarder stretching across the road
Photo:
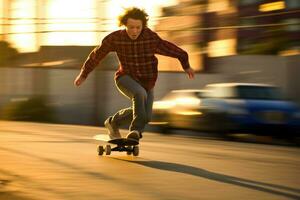
[[(160, 170), (166, 170), (166, 171), (173, 171), (178, 173), (183, 173), (187, 175), (197, 176), (201, 178), (206, 178), (218, 182), (233, 184), (241, 187), (246, 187), (262, 192), (267, 192), (275, 195), (284, 196), (287, 198), (292, 199), (300, 199), (300, 189), (290, 188), (286, 186), (281, 185), (275, 185), (270, 183), (263, 183), (258, 181), (252, 181), (249, 179), (244, 178), (238, 178), (234, 176), (228, 176), (220, 173), (211, 172), (205, 169), (196, 168), (188, 165), (182, 165), (177, 163), (169, 163), (169, 162), (162, 162), (162, 161), (141, 161), (141, 160), (126, 160), (126, 159), (120, 159), (120, 158), (114, 158), (117, 160), (122, 160), (126, 162), (131, 162), (139, 165), (143, 165), (146, 167), (154, 168), (154, 169), (160, 169)], [(277, 189), (277, 190), (276, 190)], [(278, 190), (286, 190), (287, 192), (278, 191)], [(291, 194), (288, 192), (294, 192), (299, 193), (298, 195)]]

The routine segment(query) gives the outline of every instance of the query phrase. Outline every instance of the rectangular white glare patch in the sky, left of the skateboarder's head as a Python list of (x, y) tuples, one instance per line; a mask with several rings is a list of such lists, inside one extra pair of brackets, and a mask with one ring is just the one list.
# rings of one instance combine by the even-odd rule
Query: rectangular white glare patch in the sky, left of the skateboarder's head
[(48, 33), (44, 45), (95, 44), (96, 34), (91, 32), (96, 29), (91, 21), (95, 17), (94, 3), (94, 0), (48, 1), (46, 17), (51, 19), (51, 24), (47, 28), (57, 32)]

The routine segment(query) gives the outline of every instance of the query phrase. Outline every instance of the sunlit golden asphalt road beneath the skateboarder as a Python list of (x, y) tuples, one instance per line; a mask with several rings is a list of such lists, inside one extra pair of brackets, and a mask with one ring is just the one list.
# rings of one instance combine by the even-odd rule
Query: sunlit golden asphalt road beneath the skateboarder
[(300, 199), (296, 147), (145, 133), (139, 157), (98, 156), (101, 134), (0, 121), (0, 199)]

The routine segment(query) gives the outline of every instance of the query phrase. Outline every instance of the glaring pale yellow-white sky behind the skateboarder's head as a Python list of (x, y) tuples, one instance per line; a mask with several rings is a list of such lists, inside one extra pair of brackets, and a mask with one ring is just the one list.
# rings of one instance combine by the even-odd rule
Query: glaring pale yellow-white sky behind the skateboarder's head
[[(0, 0), (1, 11), (8, 9), (4, 1)], [(96, 45), (108, 34), (107, 31), (118, 28), (117, 16), (122, 13), (123, 8), (131, 6), (145, 9), (150, 15), (149, 26), (152, 27), (155, 25), (155, 19), (161, 14), (160, 8), (176, 4), (177, 0), (13, 0), (11, 2), (10, 17), (14, 18), (13, 20), (3, 20), (5, 12), (0, 12), (1, 36), (20, 52), (33, 52), (41, 45)], [(42, 3), (38, 4), (39, 2)], [(36, 20), (36, 18), (44, 20)], [(34, 33), (36, 31), (44, 32), (36, 34)], [(7, 32), (10, 34), (3, 35)]]

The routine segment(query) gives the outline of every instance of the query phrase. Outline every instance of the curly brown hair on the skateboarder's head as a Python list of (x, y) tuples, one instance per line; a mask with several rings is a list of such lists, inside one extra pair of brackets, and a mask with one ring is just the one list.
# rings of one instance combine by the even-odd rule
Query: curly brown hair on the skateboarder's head
[(119, 16), (119, 26), (126, 26), (128, 18), (139, 19), (143, 22), (143, 27), (147, 26), (148, 14), (143, 9), (136, 7), (127, 8), (125, 12)]

